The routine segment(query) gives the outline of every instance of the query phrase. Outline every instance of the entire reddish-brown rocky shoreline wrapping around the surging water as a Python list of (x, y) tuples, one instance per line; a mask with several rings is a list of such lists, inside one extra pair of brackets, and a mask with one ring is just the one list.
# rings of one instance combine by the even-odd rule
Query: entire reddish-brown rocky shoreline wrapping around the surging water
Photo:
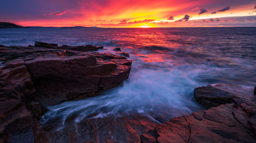
[(208, 110), (172, 119), (168, 107), (152, 113), (161, 124), (132, 112), (77, 124), (70, 117), (61, 129), (54, 122), (42, 126), (46, 106), (95, 96), (128, 78), (129, 54), (99, 49), (40, 41), (0, 45), (0, 142), (256, 142), (256, 97), (221, 85), (195, 88), (196, 101)]

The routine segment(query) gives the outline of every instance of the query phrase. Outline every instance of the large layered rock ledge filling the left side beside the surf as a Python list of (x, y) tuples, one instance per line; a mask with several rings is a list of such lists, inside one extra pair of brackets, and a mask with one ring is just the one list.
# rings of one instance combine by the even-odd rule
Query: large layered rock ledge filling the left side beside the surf
[(0, 142), (48, 142), (42, 107), (94, 96), (129, 76), (132, 61), (124, 56), (35, 43), (42, 47), (0, 47)]

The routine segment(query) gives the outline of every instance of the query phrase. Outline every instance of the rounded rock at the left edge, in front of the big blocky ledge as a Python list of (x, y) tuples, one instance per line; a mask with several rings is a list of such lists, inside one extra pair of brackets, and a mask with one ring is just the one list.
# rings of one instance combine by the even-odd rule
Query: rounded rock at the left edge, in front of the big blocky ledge
[(8, 62), (0, 73), (0, 142), (29, 143), (35, 139), (32, 120), (40, 116), (41, 107), (30, 73), (21, 61)]

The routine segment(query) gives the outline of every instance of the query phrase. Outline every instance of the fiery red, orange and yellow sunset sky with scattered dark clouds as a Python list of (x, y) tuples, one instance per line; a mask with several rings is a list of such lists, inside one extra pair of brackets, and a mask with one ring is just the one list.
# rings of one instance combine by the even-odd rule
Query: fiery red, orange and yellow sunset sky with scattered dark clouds
[(256, 26), (255, 0), (1, 0), (0, 22), (22, 26)]

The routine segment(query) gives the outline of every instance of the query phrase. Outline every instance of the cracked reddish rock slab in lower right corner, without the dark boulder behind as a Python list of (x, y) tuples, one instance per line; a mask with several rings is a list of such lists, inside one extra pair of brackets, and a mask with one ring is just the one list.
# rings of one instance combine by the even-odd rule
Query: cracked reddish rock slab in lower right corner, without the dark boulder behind
[(248, 122), (248, 117), (234, 117), (234, 110), (239, 110), (244, 115), (241, 107), (223, 104), (206, 111), (201, 110), (188, 116), (173, 118), (141, 135), (141, 142), (255, 142), (252, 126), (244, 126), (244, 122), (240, 122)]

